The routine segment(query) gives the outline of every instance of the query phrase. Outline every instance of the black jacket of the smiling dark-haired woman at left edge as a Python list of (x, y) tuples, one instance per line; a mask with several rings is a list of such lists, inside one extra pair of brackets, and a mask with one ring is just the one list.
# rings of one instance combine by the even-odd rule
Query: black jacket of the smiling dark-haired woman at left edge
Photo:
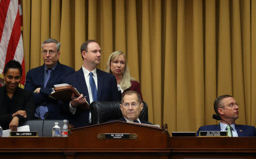
[[(3, 129), (9, 129), (9, 124), (13, 120), (13, 114), (18, 110), (26, 111), (27, 118), (19, 116), (19, 125), (26, 120), (32, 119), (35, 113), (35, 100), (30, 91), (18, 89), (13, 95), (13, 107), (3, 102), (5, 99), (5, 87), (0, 87), (0, 123)], [(5, 104), (3, 104), (5, 103)], [(11, 107), (11, 109), (10, 109)]]

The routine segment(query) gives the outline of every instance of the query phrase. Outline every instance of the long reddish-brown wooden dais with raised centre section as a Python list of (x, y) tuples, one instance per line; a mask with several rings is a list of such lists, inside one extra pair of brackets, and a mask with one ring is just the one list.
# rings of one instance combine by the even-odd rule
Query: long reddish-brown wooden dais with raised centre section
[[(99, 133), (138, 137), (98, 139)], [(0, 158), (256, 158), (256, 137), (170, 137), (124, 122), (73, 129), (69, 137), (0, 137), (0, 143)]]

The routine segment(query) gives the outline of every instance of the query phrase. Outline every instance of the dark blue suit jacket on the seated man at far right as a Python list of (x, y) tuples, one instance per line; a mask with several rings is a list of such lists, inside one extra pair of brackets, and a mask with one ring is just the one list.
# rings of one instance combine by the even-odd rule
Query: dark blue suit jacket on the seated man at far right
[[(256, 129), (254, 126), (236, 124), (236, 130), (239, 137), (256, 136)], [(221, 127), (220, 124), (202, 126), (198, 129), (196, 136), (199, 136), (199, 131), (221, 131)]]

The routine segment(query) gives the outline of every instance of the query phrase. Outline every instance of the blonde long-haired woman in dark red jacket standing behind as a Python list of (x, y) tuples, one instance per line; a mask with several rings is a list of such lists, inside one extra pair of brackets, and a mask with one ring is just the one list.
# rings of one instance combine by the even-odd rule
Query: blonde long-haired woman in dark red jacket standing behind
[(135, 81), (135, 79), (130, 76), (125, 53), (121, 51), (113, 52), (109, 56), (106, 65), (106, 72), (115, 76), (115, 79), (117, 80), (118, 91), (121, 91), (121, 93), (124, 93), (128, 90), (137, 91), (141, 95), (141, 99), (143, 101), (141, 85), (138, 81)]

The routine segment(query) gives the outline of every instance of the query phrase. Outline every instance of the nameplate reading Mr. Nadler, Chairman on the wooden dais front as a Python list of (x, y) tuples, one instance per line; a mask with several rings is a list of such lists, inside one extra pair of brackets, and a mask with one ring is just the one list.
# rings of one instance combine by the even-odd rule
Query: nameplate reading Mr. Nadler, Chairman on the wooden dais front
[(98, 139), (137, 139), (136, 133), (100, 133), (97, 135)]

